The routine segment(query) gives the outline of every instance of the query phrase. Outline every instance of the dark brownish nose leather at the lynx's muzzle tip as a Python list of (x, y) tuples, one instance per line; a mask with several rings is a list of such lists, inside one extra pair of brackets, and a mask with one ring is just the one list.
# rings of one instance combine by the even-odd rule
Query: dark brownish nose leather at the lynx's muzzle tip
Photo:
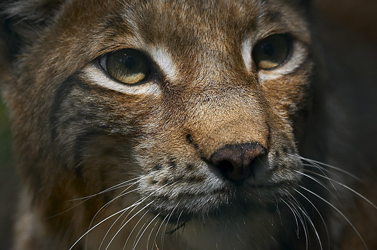
[(251, 175), (253, 160), (265, 154), (257, 143), (226, 145), (211, 156), (211, 161), (227, 179), (239, 181)]

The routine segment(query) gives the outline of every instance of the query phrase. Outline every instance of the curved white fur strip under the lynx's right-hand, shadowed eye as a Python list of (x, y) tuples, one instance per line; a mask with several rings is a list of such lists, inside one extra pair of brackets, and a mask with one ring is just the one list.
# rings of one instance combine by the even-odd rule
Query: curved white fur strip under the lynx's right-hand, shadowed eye
[(300, 42), (294, 42), (292, 45), (291, 55), (287, 58), (287, 61), (280, 66), (270, 70), (259, 70), (258, 76), (260, 81), (268, 81), (277, 79), (282, 75), (290, 74), (294, 72), (305, 61), (308, 56), (308, 52), (303, 44)]

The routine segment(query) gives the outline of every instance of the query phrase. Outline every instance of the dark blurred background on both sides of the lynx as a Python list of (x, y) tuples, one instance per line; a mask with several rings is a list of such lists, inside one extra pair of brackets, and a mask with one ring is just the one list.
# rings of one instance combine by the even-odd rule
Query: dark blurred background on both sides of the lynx
[[(328, 78), (344, 82), (357, 100), (365, 131), (377, 126), (377, 1), (313, 0), (315, 36), (323, 48)], [(352, 96), (351, 96), (352, 95)], [(357, 95), (355, 97), (355, 95)], [(368, 135), (361, 137), (368, 140)], [(10, 118), (0, 99), (0, 250), (10, 249), (20, 184), (13, 164)], [(362, 141), (360, 143), (363, 143)], [(377, 149), (377, 147), (375, 147)]]

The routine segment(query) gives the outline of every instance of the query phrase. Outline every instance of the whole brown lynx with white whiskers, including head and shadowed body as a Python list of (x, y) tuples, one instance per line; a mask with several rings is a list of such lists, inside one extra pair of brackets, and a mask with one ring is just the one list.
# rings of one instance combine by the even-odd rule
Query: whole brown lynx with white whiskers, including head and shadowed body
[(307, 3), (2, 8), (14, 249), (372, 247), (347, 213), (376, 213), (362, 174), (327, 154)]

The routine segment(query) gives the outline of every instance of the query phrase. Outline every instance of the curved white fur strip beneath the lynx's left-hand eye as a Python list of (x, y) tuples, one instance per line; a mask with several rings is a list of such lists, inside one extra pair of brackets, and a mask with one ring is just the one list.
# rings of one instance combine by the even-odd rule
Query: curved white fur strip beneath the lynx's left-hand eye
[(160, 88), (155, 82), (146, 82), (144, 84), (129, 85), (118, 82), (106, 76), (102, 70), (95, 65), (89, 65), (83, 69), (83, 78), (86, 82), (100, 85), (102, 87), (116, 90), (125, 94), (149, 94), (159, 95)]

